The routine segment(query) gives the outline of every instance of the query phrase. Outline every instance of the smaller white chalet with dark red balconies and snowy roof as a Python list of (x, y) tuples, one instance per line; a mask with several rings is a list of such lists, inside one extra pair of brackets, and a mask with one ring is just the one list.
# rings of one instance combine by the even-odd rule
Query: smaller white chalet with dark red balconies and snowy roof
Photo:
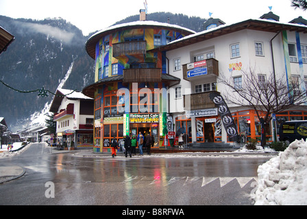
[(56, 137), (61, 144), (71, 140), (75, 146), (93, 146), (94, 101), (81, 92), (58, 89), (51, 103)]

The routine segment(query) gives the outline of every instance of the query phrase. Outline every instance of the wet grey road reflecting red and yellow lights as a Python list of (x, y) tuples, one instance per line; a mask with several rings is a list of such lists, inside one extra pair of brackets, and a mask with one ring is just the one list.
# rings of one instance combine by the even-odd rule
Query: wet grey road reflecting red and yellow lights
[(257, 168), (270, 158), (78, 157), (32, 144), (0, 159), (26, 170), (0, 184), (0, 205), (251, 205)]

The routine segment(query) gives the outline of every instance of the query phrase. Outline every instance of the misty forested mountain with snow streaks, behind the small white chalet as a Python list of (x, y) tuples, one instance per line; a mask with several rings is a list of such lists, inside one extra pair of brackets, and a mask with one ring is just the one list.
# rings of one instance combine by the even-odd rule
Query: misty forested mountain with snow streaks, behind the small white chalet
[(94, 60), (84, 49), (88, 36), (61, 18), (33, 21), (0, 16), (0, 26), (15, 36), (0, 55), (0, 115), (11, 131), (45, 124), (53, 95), (38, 96), (42, 87), (82, 90), (93, 83)]

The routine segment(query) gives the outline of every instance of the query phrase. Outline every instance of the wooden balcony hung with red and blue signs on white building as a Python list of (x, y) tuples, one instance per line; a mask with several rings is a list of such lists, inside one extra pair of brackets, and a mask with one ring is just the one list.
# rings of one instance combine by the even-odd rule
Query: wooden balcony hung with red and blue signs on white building
[[(196, 63), (196, 62), (195, 62)], [(197, 81), (199, 79), (213, 79), (219, 76), (219, 61), (215, 60), (214, 58), (206, 60), (206, 66), (203, 66), (206, 69), (206, 72), (203, 73), (188, 75), (188, 72), (192, 72), (195, 68), (188, 69), (188, 64), (182, 65), (182, 72), (184, 79), (187, 81)]]

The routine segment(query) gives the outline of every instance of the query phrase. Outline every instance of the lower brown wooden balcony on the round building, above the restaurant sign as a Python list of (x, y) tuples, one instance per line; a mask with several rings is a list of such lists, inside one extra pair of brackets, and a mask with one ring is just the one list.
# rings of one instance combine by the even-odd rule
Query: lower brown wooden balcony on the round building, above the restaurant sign
[(123, 83), (160, 81), (162, 81), (160, 68), (128, 68), (123, 70)]

